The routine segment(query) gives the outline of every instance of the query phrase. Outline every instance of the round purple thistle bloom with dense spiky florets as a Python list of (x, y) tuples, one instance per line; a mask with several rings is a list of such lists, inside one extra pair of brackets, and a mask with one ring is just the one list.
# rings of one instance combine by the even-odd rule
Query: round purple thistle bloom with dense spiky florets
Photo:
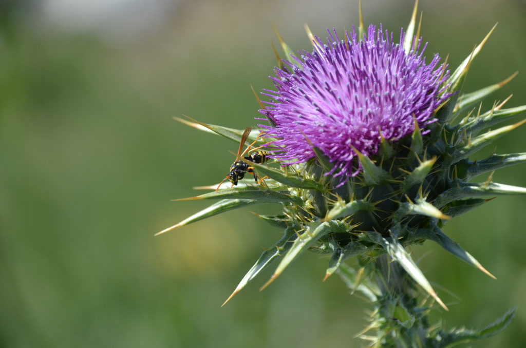
[[(382, 136), (397, 141), (411, 134), (414, 119), (421, 129), (436, 120), (434, 109), (449, 97), (440, 87), (448, 72), (436, 68), (438, 55), (426, 65), (420, 42), (407, 54), (381, 26), (378, 31), (369, 26), (362, 42), (354, 29), (345, 42), (335, 30), (329, 36), (327, 45), (316, 38), (316, 49), (304, 51), (302, 61), (296, 58), (301, 68), (290, 63), (292, 72), (276, 68), (271, 79), (278, 90), (265, 90), (274, 100), (260, 110), (272, 126), (260, 126), (279, 139), (273, 142), (279, 147), (274, 157), (284, 165), (315, 157), (316, 146), (335, 164), (330, 173), (347, 179), (359, 168), (353, 166), (352, 147), (370, 157)], [(400, 43), (403, 38), (402, 30)]]

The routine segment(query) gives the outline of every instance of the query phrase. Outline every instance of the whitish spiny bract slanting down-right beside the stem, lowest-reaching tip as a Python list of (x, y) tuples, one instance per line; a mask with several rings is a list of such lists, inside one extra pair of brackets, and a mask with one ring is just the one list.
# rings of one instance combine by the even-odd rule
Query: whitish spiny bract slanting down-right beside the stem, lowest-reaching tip
[(390, 241), (383, 239), (383, 247), (390, 255), (391, 258), (398, 261), (401, 267), (411, 276), (411, 278), (416, 281), (422, 288), (430, 294), (441, 306), (443, 309), (448, 311), (447, 306), (440, 300), (437, 293), (433, 290), (429, 281), (424, 277), (422, 271), (418, 268), (417, 264), (411, 258), (411, 255), (402, 247), (402, 244), (395, 239), (391, 238)]

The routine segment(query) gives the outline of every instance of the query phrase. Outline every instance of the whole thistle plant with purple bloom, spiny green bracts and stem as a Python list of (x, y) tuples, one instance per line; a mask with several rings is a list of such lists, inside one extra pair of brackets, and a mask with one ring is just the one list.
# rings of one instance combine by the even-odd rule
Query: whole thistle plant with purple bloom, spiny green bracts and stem
[[(261, 131), (243, 137), (242, 130), (178, 119), (241, 142), (248, 153), (264, 148), (279, 165), (245, 157), (259, 177), (268, 179), (178, 199), (219, 201), (158, 233), (252, 204), (280, 204), (281, 214), (259, 217), (284, 230), (282, 238), (261, 254), (230, 298), (272, 262), (279, 260), (262, 289), (311, 250), (328, 255), (325, 279), (338, 273), (374, 306), (370, 324), (358, 334), (372, 346), (449, 347), (496, 334), (511, 321), (514, 310), (482, 330), (446, 331), (431, 324), (428, 315), (436, 304), (448, 308), (407, 251), (431, 240), (494, 278), (442, 227), (496, 196), (526, 193), (492, 181), (495, 170), (526, 161), (526, 153), (470, 159), (524, 123), (495, 128), (526, 111), (526, 106), (503, 108), (508, 99), (486, 111), (479, 106), (515, 74), (478, 91), (461, 90), (493, 29), (450, 70), (438, 55), (424, 56), (420, 24), (414, 35), (417, 5), (399, 42), (381, 26), (366, 30), (361, 6), (358, 30), (343, 39), (329, 30), (323, 41), (307, 27), (313, 49), (300, 57), (276, 32), (287, 58), (274, 49), (276, 90), (262, 92), (270, 101), (256, 96), (268, 121), (259, 125)], [(487, 180), (471, 182), (483, 173)], [(349, 258), (357, 259), (356, 268), (344, 262)], [(366, 335), (370, 330), (375, 335)]]

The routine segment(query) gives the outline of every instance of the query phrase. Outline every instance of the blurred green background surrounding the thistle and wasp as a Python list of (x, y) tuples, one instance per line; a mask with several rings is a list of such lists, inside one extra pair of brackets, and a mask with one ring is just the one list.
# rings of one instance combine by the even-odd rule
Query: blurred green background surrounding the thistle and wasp
[[(412, 6), (365, 1), (365, 22), (397, 37)], [(316, 254), (259, 292), (267, 270), (220, 308), (260, 246), (280, 237), (248, 209), (153, 237), (207, 206), (170, 200), (224, 178), (237, 149), (172, 117), (255, 125), (250, 84), (271, 88), (275, 65), (269, 18), (292, 48), (309, 49), (304, 23), (321, 37), (326, 28), (342, 33), (357, 24), (357, 8), (354, 0), (0, 2), (0, 347), (360, 346), (353, 336), (370, 307), (336, 275), (321, 283), (327, 259)], [(508, 107), (526, 104), (524, 1), (423, 0), (420, 9), (427, 56), (449, 54), (451, 67), (500, 22), (464, 90), (519, 70), (484, 107), (512, 93)], [(496, 145), (526, 151), (526, 128)], [(525, 172), (503, 169), (494, 181), (526, 186)], [(526, 346), (525, 212), (526, 197), (500, 197), (445, 228), (497, 281), (431, 242), (413, 249), (450, 308), (433, 316), (448, 329), (483, 327), (519, 305), (504, 332), (472, 346)]]

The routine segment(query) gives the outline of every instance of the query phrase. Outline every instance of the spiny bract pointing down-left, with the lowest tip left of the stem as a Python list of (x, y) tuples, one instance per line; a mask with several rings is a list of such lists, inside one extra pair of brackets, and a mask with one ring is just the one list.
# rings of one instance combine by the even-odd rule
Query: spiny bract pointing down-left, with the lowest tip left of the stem
[(252, 268), (245, 274), (245, 277), (239, 282), (236, 287), (236, 290), (232, 292), (229, 298), (221, 306), (224, 306), (235, 294), (237, 294), (241, 289), (245, 288), (245, 285), (249, 281), (254, 279), (262, 270), (266, 269), (272, 262), (279, 258), (283, 253), (286, 253), (291, 247), (294, 240), (297, 238), (296, 227), (287, 227), (285, 229), (285, 234), (281, 239), (272, 246), (272, 248), (265, 250), (258, 261), (252, 266)]

